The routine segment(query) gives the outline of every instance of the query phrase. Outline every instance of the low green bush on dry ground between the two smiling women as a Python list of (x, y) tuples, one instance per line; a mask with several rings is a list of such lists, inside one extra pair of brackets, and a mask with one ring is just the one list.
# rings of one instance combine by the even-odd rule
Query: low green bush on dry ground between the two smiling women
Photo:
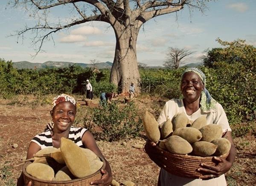
[[(96, 139), (117, 141), (135, 137), (143, 130), (140, 116), (137, 116), (134, 102), (118, 105), (116, 102), (94, 108), (91, 118), (84, 118), (84, 127), (93, 133)], [(93, 130), (99, 127), (102, 132)]]

